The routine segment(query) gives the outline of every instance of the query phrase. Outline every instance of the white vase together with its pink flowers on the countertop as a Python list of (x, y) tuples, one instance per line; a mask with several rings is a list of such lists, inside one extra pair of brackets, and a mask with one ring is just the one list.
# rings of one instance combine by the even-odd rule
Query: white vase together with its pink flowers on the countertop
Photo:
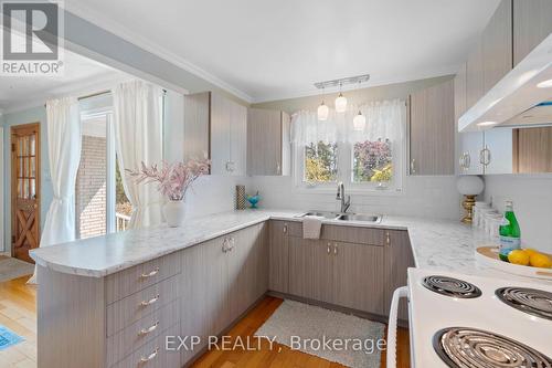
[(157, 182), (159, 192), (168, 199), (163, 206), (163, 214), (170, 228), (181, 225), (185, 217), (184, 197), (191, 185), (201, 176), (209, 174), (211, 161), (208, 159), (191, 159), (188, 162), (161, 162), (147, 167), (141, 162), (141, 169), (127, 170), (137, 183)]

